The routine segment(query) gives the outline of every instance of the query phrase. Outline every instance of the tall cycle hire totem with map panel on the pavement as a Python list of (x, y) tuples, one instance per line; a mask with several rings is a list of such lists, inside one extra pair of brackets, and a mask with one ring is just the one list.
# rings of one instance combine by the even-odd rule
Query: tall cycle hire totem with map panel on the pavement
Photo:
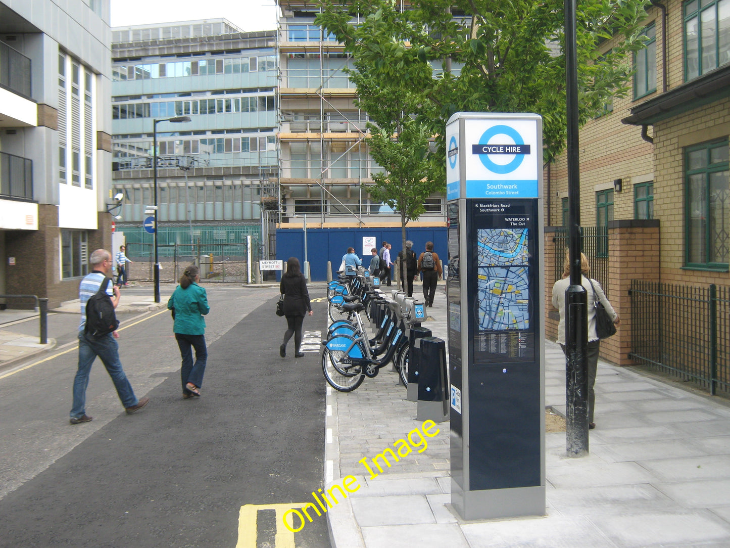
[(542, 516), (542, 118), (456, 113), (446, 142), (451, 503)]

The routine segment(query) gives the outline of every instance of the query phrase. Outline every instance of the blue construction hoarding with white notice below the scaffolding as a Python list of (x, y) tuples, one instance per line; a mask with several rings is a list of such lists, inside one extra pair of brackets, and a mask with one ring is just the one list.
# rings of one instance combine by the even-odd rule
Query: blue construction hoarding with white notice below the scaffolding
[[(307, 229), (307, 259), (310, 262), (312, 281), (326, 281), (327, 262), (332, 263), (332, 270), (337, 270), (342, 256), (348, 247), (355, 248), (356, 254), (363, 260), (363, 265), (370, 264), (369, 252), (363, 256), (363, 239), (374, 238), (373, 247), (380, 249), (385, 240), (393, 245), (391, 253), (393, 262), (401, 251), (401, 229), (393, 228), (345, 228), (345, 229)], [(412, 240), (413, 251), (420, 254), (426, 250), (426, 242), (434, 243), (434, 251), (446, 263), (446, 227), (407, 227), (406, 239)], [(304, 230), (277, 229), (276, 231), (276, 258), (286, 261), (295, 256), (300, 262), (304, 261)]]

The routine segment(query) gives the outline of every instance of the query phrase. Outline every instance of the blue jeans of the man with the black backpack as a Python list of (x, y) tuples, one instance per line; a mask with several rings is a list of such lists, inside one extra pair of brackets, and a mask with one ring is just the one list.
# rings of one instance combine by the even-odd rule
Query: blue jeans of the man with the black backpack
[(86, 387), (89, 384), (89, 373), (94, 359), (99, 356), (107, 373), (112, 378), (117, 389), (119, 399), (124, 407), (136, 406), (139, 403), (134, 395), (131, 384), (122, 369), (119, 361), (119, 345), (111, 333), (103, 337), (92, 337), (85, 332), (79, 332), (79, 368), (74, 378), (74, 406), (71, 409), (71, 418), (75, 419), (86, 414)]

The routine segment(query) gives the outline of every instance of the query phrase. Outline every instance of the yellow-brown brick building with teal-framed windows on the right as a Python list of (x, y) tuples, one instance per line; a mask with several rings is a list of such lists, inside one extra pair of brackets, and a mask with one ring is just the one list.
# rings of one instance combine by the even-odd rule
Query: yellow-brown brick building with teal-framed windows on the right
[[(633, 58), (631, 91), (580, 131), (580, 220), (596, 237), (596, 246), (587, 251), (623, 321), (618, 335), (602, 345), (602, 354), (622, 365), (634, 363), (648, 336), (642, 331), (646, 324), (666, 331), (685, 318), (685, 333), (692, 335), (683, 336), (698, 347), (696, 360), (702, 361), (707, 346), (726, 361), (726, 323), (719, 324), (719, 338), (710, 340), (704, 327), (694, 333), (697, 322), (690, 311), (670, 320), (657, 300), (653, 319), (642, 316), (639, 324), (638, 293), (629, 291), (632, 280), (655, 282), (657, 294), (666, 292), (660, 291), (666, 284), (690, 296), (708, 286), (718, 291), (730, 286), (730, 1), (652, 4), (644, 28), (647, 45)], [(600, 52), (607, 53), (618, 39), (602, 43)], [(564, 250), (557, 227), (567, 224), (565, 156), (546, 169), (545, 208), (552, 226), (545, 237), (552, 337), (556, 313), (550, 311), (550, 289), (562, 270), (556, 262), (562, 262)], [(702, 306), (697, 300), (692, 308)], [(660, 354), (652, 360), (674, 359), (666, 349)]]

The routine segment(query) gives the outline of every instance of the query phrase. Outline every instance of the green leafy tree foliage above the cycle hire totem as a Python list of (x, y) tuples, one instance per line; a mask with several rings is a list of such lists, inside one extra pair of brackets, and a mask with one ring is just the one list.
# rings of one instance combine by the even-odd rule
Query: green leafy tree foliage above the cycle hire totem
[[(629, 90), (631, 53), (643, 45), (639, 23), (648, 4), (648, 0), (578, 1), (581, 123), (601, 114), (613, 96)], [(438, 174), (441, 188), (445, 188), (445, 142), (438, 137), (450, 115), (459, 111), (537, 113), (543, 119), (545, 161), (563, 150), (561, 0), (412, 0), (404, 2), (403, 12), (400, 0), (320, 0), (320, 6), (323, 12), (316, 22), (353, 56), (358, 74), (353, 71), (350, 77), (381, 138), (393, 129), (388, 119), (392, 122), (403, 114), (410, 115), (414, 134), (423, 135), (425, 130), (437, 137), (438, 153), (421, 161), (431, 164), (425, 172)], [(617, 34), (623, 39), (601, 55), (599, 45)], [(407, 147), (402, 151), (407, 153)], [(390, 170), (388, 161), (377, 156), (380, 152), (375, 145), (374, 158)], [(396, 159), (396, 154), (389, 158)]]

